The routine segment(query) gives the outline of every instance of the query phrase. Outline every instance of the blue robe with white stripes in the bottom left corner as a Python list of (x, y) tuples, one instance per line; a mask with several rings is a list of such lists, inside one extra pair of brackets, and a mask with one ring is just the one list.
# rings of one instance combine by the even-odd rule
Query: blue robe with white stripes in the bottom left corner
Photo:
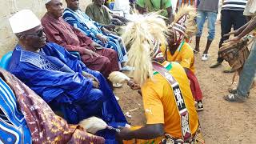
[(0, 78), (0, 143), (32, 143), (24, 115), (13, 90)]

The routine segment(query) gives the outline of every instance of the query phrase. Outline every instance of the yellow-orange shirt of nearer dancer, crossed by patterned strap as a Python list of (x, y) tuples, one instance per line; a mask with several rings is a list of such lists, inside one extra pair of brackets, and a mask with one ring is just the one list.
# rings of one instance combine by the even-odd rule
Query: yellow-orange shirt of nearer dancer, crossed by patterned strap
[[(198, 114), (194, 107), (194, 98), (186, 72), (177, 62), (167, 62), (171, 66), (170, 74), (179, 83), (186, 108), (190, 116), (190, 130), (194, 134), (198, 128)], [(162, 64), (166, 65), (166, 62)], [(153, 80), (147, 80), (142, 86), (142, 100), (147, 124), (164, 124), (165, 132), (174, 138), (182, 138), (181, 122), (174, 93), (170, 84), (161, 74), (154, 74)]]

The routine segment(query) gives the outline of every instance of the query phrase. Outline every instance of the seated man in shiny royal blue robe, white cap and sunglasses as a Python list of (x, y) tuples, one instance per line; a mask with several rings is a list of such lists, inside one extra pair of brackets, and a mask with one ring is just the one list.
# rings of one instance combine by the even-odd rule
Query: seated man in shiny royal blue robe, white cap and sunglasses
[[(24, 20), (26, 19), (26, 21)], [(18, 38), (8, 70), (40, 95), (67, 122), (78, 123), (97, 116), (110, 126), (125, 126), (126, 118), (106, 79), (90, 70), (64, 47), (46, 42), (40, 20), (30, 10), (10, 18)], [(103, 131), (102, 136), (114, 139)]]

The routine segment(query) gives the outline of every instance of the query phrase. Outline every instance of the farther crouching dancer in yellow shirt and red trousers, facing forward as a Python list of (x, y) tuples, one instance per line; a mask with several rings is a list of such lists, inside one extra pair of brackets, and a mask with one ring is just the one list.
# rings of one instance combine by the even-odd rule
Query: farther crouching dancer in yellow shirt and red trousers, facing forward
[(195, 76), (194, 52), (186, 38), (191, 38), (197, 30), (194, 22), (196, 11), (192, 6), (182, 6), (178, 13), (174, 15), (174, 22), (169, 26), (167, 33), (167, 45), (162, 45), (161, 50), (166, 61), (178, 62), (186, 71), (190, 79), (190, 88), (197, 102), (197, 110), (203, 110), (202, 91), (198, 78)]

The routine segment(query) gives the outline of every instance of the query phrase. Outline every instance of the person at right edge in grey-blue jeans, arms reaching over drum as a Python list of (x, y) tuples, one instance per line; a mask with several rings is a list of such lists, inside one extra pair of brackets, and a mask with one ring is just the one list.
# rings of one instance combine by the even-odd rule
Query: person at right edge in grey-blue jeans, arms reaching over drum
[[(248, 0), (245, 13), (246, 16), (251, 16), (250, 22), (242, 26), (238, 30), (234, 30), (227, 35), (236, 34), (237, 36), (230, 39), (231, 42), (239, 42), (239, 40), (249, 34), (252, 30), (256, 30), (256, 0)], [(231, 94), (224, 96), (228, 102), (246, 102), (249, 98), (250, 89), (253, 85), (256, 73), (256, 38), (250, 49), (250, 54), (242, 67), (241, 74), (239, 75), (239, 82), (237, 89), (229, 90)]]

